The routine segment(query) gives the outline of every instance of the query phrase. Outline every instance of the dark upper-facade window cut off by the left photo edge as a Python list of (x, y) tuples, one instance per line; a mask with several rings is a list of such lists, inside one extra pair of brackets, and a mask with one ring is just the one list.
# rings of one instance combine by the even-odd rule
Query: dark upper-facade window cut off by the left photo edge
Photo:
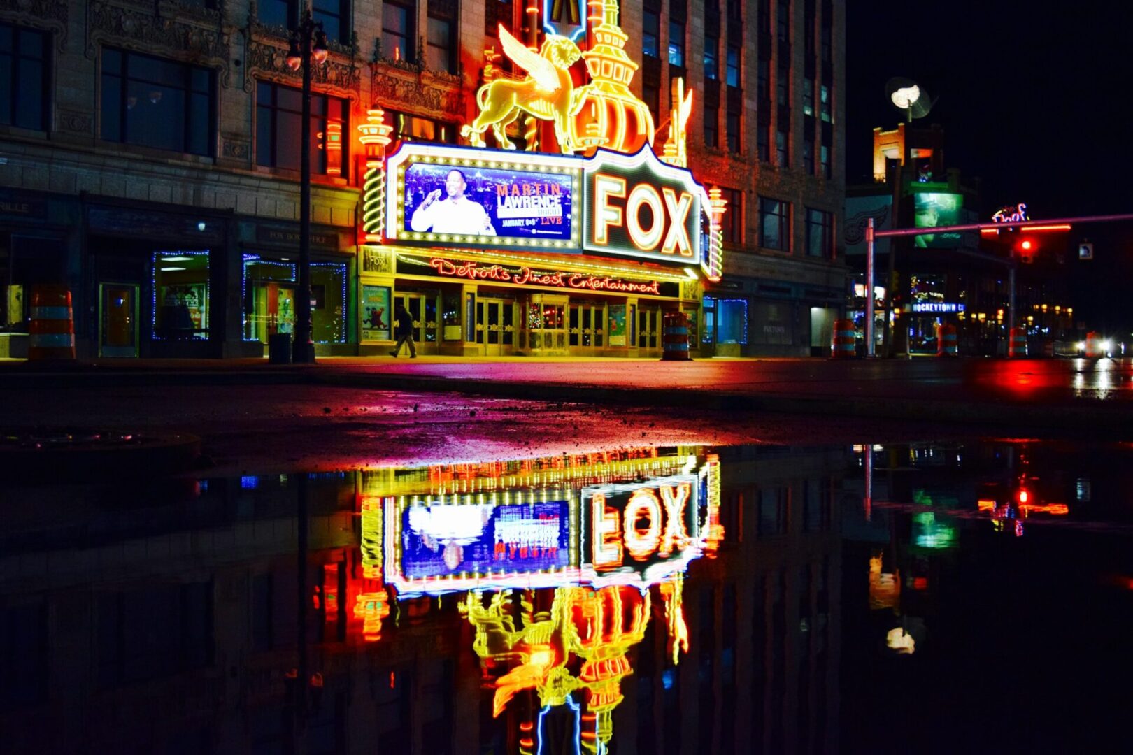
[(49, 34), (0, 24), (0, 123), (48, 130)]

